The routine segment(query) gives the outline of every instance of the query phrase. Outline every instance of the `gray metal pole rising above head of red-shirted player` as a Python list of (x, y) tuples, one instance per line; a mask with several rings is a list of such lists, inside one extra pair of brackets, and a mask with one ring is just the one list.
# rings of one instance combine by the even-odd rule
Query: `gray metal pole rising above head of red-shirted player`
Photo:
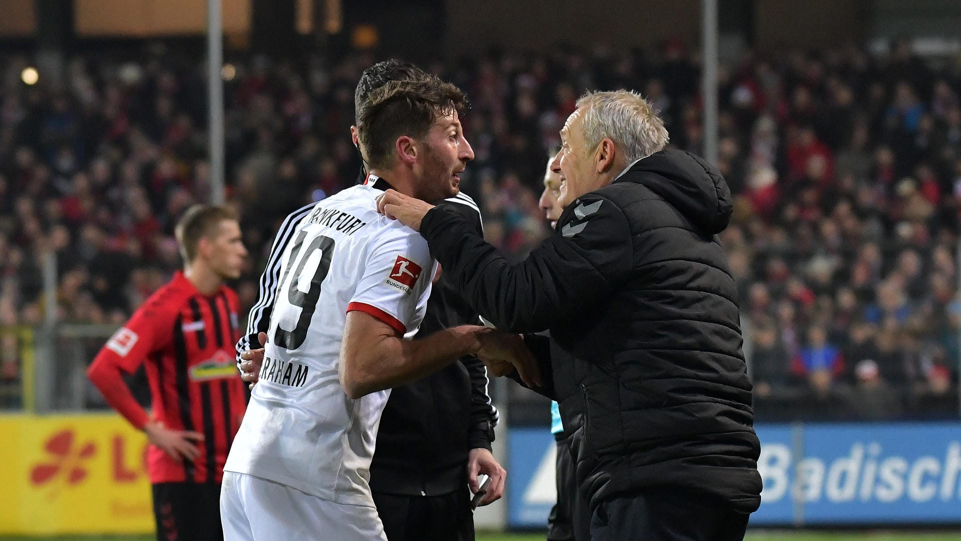
[(224, 202), (224, 64), (220, 0), (207, 0), (207, 86), (209, 103), (210, 203)]

